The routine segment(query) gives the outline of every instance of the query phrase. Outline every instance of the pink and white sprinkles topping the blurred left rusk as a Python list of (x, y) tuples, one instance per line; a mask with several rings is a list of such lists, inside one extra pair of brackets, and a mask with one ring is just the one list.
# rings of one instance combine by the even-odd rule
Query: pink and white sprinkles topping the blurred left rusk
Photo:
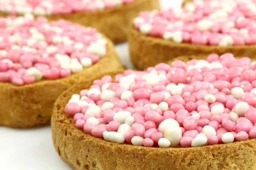
[(31, 84), (83, 71), (106, 54), (93, 28), (33, 15), (0, 18), (0, 82)]

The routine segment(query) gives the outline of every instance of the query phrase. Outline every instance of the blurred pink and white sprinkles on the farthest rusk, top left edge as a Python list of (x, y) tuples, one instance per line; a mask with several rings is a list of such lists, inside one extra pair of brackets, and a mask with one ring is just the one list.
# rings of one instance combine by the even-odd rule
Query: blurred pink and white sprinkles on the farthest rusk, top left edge
[(35, 15), (70, 14), (114, 8), (135, 0), (1, 0), (0, 12)]

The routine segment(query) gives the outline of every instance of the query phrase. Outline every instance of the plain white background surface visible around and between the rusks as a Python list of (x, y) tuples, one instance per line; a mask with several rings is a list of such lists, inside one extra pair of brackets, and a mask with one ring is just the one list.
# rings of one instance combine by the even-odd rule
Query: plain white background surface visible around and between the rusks
[[(162, 0), (163, 8), (181, 0)], [(116, 45), (122, 62), (133, 68), (127, 43)], [(32, 129), (0, 127), (0, 170), (71, 170), (55, 152), (50, 126)]]

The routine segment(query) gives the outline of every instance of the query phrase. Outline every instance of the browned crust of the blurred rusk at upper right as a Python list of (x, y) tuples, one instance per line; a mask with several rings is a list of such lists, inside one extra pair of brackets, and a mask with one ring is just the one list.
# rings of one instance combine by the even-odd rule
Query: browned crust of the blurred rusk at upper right
[(224, 54), (230, 52), (236, 57), (254, 58), (256, 45), (239, 46), (215, 46), (215, 45), (192, 45), (189, 43), (175, 43), (171, 40), (150, 37), (141, 34), (133, 26), (128, 34), (128, 43), (131, 61), (140, 69), (157, 65), (160, 62), (168, 62), (177, 56), (207, 55), (211, 53)]

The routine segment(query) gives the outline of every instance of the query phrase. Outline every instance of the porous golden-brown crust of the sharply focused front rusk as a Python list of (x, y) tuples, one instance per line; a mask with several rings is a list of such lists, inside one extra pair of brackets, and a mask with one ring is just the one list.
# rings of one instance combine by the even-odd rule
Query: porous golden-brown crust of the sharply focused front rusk
[(63, 161), (75, 170), (255, 170), (256, 139), (189, 148), (139, 147), (116, 144), (75, 127), (64, 107), (72, 94), (91, 82), (62, 93), (52, 111), (52, 140)]

